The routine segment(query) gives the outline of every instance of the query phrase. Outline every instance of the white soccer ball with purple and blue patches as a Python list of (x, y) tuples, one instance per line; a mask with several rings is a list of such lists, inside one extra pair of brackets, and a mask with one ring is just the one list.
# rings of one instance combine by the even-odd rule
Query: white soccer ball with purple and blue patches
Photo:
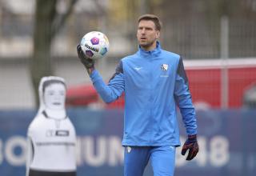
[(102, 32), (91, 31), (82, 37), (80, 46), (88, 58), (99, 59), (106, 56), (110, 42)]

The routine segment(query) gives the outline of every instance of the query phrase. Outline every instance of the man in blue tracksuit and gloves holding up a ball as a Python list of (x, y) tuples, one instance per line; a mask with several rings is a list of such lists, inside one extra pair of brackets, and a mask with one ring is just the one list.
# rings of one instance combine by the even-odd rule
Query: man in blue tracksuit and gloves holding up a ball
[(78, 45), (78, 58), (104, 102), (125, 93), (122, 146), (126, 147), (125, 176), (142, 176), (150, 160), (154, 176), (174, 175), (175, 148), (180, 146), (177, 108), (188, 138), (182, 154), (186, 160), (198, 153), (197, 124), (182, 58), (162, 50), (158, 38), (161, 22), (153, 14), (138, 18), (138, 52), (122, 58), (106, 85)]

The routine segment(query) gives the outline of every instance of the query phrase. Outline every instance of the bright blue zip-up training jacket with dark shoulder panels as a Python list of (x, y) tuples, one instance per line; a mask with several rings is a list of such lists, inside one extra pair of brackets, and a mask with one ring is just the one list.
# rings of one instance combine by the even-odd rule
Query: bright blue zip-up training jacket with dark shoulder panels
[(123, 146), (180, 146), (177, 108), (187, 134), (197, 134), (194, 106), (182, 58), (162, 50), (139, 47), (122, 58), (106, 85), (94, 70), (90, 74), (104, 102), (113, 102), (125, 93)]

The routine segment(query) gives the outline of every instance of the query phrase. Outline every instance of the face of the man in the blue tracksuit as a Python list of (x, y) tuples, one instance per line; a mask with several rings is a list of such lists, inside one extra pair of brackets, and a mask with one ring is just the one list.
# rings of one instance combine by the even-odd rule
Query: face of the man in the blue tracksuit
[(160, 36), (160, 31), (155, 29), (154, 22), (142, 20), (138, 23), (137, 39), (139, 45), (144, 50), (154, 50), (156, 40)]

